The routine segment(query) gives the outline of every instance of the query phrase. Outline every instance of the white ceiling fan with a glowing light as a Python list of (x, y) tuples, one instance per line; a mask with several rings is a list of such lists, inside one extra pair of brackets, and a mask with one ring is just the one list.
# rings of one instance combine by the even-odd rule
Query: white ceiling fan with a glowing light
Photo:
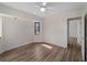
[(52, 8), (48, 6), (48, 2), (39, 2), (35, 7), (37, 7), (41, 12), (45, 12), (47, 9)]

